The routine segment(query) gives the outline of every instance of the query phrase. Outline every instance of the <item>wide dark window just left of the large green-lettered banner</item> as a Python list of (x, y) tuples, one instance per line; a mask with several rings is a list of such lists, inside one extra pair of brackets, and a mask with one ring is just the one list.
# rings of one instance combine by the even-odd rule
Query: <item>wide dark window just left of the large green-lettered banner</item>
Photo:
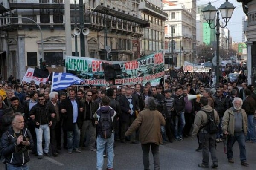
[(61, 61), (63, 60), (62, 52), (44, 52), (44, 61), (47, 66), (61, 66)]

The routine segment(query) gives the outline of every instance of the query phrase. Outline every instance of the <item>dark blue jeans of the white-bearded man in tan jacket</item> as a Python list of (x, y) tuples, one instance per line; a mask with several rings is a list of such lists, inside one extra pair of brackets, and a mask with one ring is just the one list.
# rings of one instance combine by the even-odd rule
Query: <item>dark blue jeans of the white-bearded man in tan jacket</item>
[(227, 137), (227, 159), (233, 158), (233, 150), (232, 147), (235, 144), (235, 142), (238, 142), (239, 150), (240, 150), (240, 161), (246, 161), (246, 150), (245, 150), (245, 136), (244, 132), (240, 133), (234, 133), (234, 136), (228, 136)]

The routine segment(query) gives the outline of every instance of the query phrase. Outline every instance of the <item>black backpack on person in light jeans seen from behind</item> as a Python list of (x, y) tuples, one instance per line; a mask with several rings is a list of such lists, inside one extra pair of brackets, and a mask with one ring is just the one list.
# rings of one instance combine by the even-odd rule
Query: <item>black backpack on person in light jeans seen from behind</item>
[(110, 114), (110, 110), (108, 112), (101, 112), (99, 117), (99, 135), (102, 138), (110, 138), (113, 131), (113, 122)]

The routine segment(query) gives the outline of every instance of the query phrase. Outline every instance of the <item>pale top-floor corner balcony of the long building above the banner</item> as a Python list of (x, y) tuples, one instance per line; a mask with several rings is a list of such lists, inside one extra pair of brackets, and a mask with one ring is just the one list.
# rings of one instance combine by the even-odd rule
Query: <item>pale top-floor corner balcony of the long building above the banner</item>
[(144, 13), (160, 18), (161, 20), (167, 20), (168, 18), (168, 14), (166, 12), (163, 12), (157, 6), (154, 6), (153, 4), (146, 1), (140, 3), (139, 9)]

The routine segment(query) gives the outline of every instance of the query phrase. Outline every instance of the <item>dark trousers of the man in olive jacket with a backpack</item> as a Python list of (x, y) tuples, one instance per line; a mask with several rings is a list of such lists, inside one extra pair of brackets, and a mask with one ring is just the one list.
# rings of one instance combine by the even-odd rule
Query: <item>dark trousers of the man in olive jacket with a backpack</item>
[(211, 153), (212, 157), (212, 164), (218, 164), (218, 159), (216, 157), (215, 151), (215, 138), (216, 134), (209, 134), (209, 133), (199, 133), (200, 140), (202, 139), (202, 147), (203, 147), (203, 161), (204, 165), (209, 165), (209, 152)]

